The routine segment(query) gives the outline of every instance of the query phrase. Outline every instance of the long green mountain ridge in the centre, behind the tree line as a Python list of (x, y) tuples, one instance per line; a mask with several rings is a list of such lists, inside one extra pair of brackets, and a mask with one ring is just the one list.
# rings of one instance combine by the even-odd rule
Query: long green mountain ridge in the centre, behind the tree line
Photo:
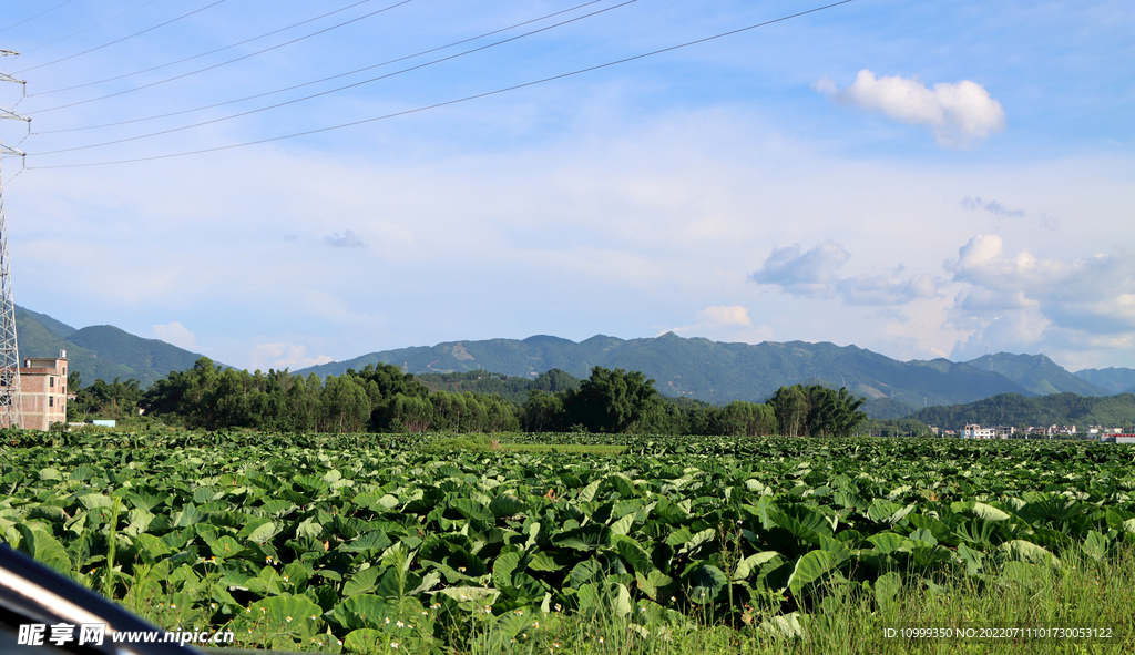
[(326, 378), (370, 363), (404, 366), (417, 375), (484, 370), (536, 377), (558, 368), (578, 378), (603, 366), (642, 371), (666, 395), (712, 403), (760, 402), (782, 385), (819, 383), (906, 404), (898, 409), (885, 405), (889, 414), (903, 406), (914, 410), (927, 404), (966, 403), (1000, 393), (1034, 395), (999, 372), (948, 360), (900, 362), (831, 343), (721, 343), (682, 338), (673, 333), (630, 341), (597, 335), (580, 343), (543, 335), (523, 341), (448, 342), (370, 353), (299, 372)]

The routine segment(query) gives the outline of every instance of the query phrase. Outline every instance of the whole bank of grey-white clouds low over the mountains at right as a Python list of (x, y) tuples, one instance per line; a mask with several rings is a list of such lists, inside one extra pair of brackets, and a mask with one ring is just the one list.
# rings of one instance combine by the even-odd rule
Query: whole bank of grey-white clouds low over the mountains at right
[(851, 253), (834, 241), (808, 251), (773, 249), (749, 276), (794, 297), (847, 305), (898, 308), (945, 299), (945, 322), (966, 335), (952, 359), (984, 350), (1059, 352), (1135, 346), (1135, 249), (1116, 246), (1090, 258), (1039, 258), (1006, 251), (997, 234), (980, 234), (943, 262), (948, 277), (927, 274), (841, 276)]

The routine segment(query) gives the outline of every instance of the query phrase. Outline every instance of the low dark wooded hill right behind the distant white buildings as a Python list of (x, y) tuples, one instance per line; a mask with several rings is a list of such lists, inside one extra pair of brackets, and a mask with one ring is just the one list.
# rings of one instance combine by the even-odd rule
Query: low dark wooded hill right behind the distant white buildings
[[(926, 408), (909, 417), (930, 426), (960, 430), (967, 423), (981, 426), (1076, 426), (1127, 428), (1135, 425), (1135, 395), (1079, 396), (1052, 394), (1025, 397), (1000, 394), (968, 404)], [(1086, 431), (1086, 429), (1085, 429)]]

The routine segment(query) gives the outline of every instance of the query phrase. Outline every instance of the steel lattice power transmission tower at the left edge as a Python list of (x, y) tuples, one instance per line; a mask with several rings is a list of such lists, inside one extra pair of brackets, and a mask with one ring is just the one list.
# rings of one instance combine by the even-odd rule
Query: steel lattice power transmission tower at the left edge
[[(0, 50), (0, 57), (19, 54)], [(0, 73), (0, 82), (24, 84)], [(0, 118), (30, 121), (0, 108)], [(0, 143), (0, 154), (24, 157), (24, 152)], [(24, 427), (24, 412), (19, 396), (19, 349), (16, 345), (16, 302), (11, 295), (11, 272), (8, 269), (8, 224), (3, 212), (3, 174), (0, 173), (0, 427)]]

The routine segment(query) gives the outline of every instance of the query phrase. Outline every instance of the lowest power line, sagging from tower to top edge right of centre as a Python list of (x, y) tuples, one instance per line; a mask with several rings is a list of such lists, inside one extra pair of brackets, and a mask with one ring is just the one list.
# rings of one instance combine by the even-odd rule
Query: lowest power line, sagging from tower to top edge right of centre
[(220, 152), (222, 150), (234, 150), (234, 149), (237, 149), (237, 148), (246, 148), (249, 145), (260, 145), (262, 143), (272, 143), (272, 142), (276, 142), (276, 141), (285, 141), (287, 138), (297, 138), (300, 136), (311, 136), (312, 134), (321, 134), (323, 132), (331, 132), (331, 131), (335, 131), (335, 129), (343, 129), (343, 128), (346, 128), (346, 127), (354, 127), (354, 126), (364, 125), (364, 124), (368, 124), (368, 123), (376, 123), (376, 121), (386, 120), (386, 119), (389, 119), (389, 118), (397, 118), (400, 116), (409, 116), (411, 114), (420, 114), (420, 112), (423, 112), (423, 111), (429, 111), (430, 109), (438, 109), (438, 108), (442, 108), (442, 107), (449, 107), (449, 106), (453, 106), (453, 104), (460, 104), (462, 102), (469, 102), (471, 100), (478, 100), (478, 99), (488, 98), (488, 96), (491, 96), (491, 95), (499, 95), (502, 93), (507, 93), (510, 91), (516, 91), (519, 89), (527, 89), (529, 86), (537, 86), (539, 84), (545, 84), (545, 83), (548, 83), (548, 82), (555, 82), (557, 79), (564, 79), (564, 78), (568, 78), (568, 77), (573, 77), (573, 76), (577, 76), (577, 75), (582, 75), (585, 73), (592, 73), (595, 70), (602, 70), (604, 68), (609, 68), (612, 66), (619, 66), (621, 64), (627, 64), (629, 61), (636, 61), (638, 59), (645, 59), (647, 57), (654, 57), (656, 54), (663, 54), (665, 52), (673, 52), (674, 50), (680, 50), (682, 48), (689, 48), (691, 45), (698, 45), (698, 44), (701, 44), (701, 43), (706, 43), (708, 41), (714, 41), (714, 40), (717, 40), (717, 39), (724, 39), (725, 36), (732, 36), (734, 34), (740, 34), (742, 32), (748, 32), (750, 30), (756, 30), (758, 27), (765, 27), (765, 26), (768, 26), (768, 25), (773, 25), (775, 23), (783, 23), (783, 22), (790, 20), (792, 18), (799, 18), (800, 16), (807, 16), (808, 14), (815, 14), (817, 11), (823, 11), (825, 9), (831, 9), (833, 7), (839, 7), (840, 5), (847, 5), (849, 2), (851, 2), (851, 0), (841, 0), (840, 2), (833, 2), (831, 5), (824, 5), (823, 7), (816, 7), (814, 9), (808, 9), (808, 10), (805, 10), (805, 11), (799, 11), (799, 12), (796, 12), (796, 14), (790, 14), (788, 16), (782, 16), (780, 18), (774, 18), (772, 20), (765, 20), (764, 23), (757, 23), (755, 25), (749, 25), (747, 27), (740, 27), (738, 30), (731, 30), (729, 32), (722, 32), (721, 34), (714, 34), (713, 36), (706, 36), (706, 37), (703, 37), (703, 39), (697, 39), (695, 41), (688, 41), (686, 43), (680, 43), (678, 45), (671, 45), (669, 48), (663, 48), (663, 49), (659, 49), (659, 50), (653, 50), (650, 52), (644, 52), (642, 54), (636, 54), (633, 57), (627, 57), (627, 58), (623, 58), (623, 59), (617, 59), (615, 61), (608, 61), (606, 64), (599, 64), (598, 66), (589, 66), (587, 68), (580, 68), (580, 69), (577, 69), (577, 70), (572, 70), (571, 73), (562, 73), (560, 75), (553, 75), (552, 77), (544, 77), (541, 79), (536, 79), (536, 81), (532, 81), (532, 82), (526, 82), (523, 84), (515, 84), (513, 86), (506, 86), (504, 89), (497, 89), (495, 91), (486, 91), (484, 93), (477, 93), (477, 94), (473, 94), (473, 95), (466, 95), (464, 98), (459, 98), (459, 99), (455, 99), (455, 100), (447, 100), (445, 102), (438, 102), (438, 103), (435, 103), (435, 104), (427, 104), (427, 106), (418, 107), (418, 108), (414, 108), (414, 109), (406, 109), (404, 111), (396, 111), (394, 114), (386, 114), (384, 116), (376, 116), (376, 117), (372, 117), (372, 118), (364, 118), (362, 120), (354, 120), (354, 121), (351, 121), (351, 123), (343, 123), (343, 124), (333, 125), (333, 126), (329, 126), (329, 127), (320, 127), (320, 128), (317, 128), (317, 129), (309, 129), (309, 131), (305, 131), (305, 132), (296, 132), (294, 134), (285, 134), (283, 136), (272, 136), (272, 137), (269, 137), (269, 138), (260, 138), (260, 140), (257, 140), (257, 141), (247, 141), (247, 142), (244, 142), (244, 143), (233, 143), (233, 144), (229, 144), (229, 145), (219, 145), (217, 148), (205, 148), (205, 149), (201, 149), (201, 150), (191, 150), (191, 151), (185, 151), (185, 152), (174, 152), (174, 153), (169, 153), (169, 154), (158, 154), (158, 156), (153, 156), (153, 157), (140, 157), (140, 158), (136, 158), (136, 159), (120, 159), (120, 160), (117, 160), (117, 161), (96, 161), (96, 162), (91, 162), (91, 163), (69, 163), (69, 165), (60, 165), (60, 166), (34, 166), (34, 167), (33, 166), (28, 166), (27, 168), (30, 168), (30, 169), (86, 168), (86, 167), (91, 167), (91, 166), (111, 166), (111, 165), (117, 165), (117, 163), (136, 163), (136, 162), (140, 162), (140, 161), (155, 161), (155, 160), (159, 160), (159, 159), (173, 159), (175, 157), (188, 157), (191, 154), (204, 154), (207, 152)]

